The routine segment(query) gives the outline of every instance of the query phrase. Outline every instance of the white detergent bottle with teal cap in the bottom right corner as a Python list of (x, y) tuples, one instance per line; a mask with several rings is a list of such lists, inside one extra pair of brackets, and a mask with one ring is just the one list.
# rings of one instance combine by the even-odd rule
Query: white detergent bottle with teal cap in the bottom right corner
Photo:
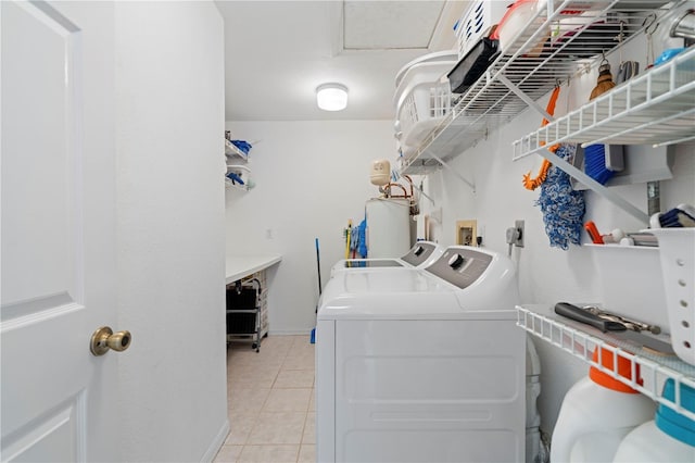
[[(674, 402), (675, 386), (668, 379), (662, 397)], [(695, 413), (695, 389), (681, 384), (680, 403)], [(695, 462), (695, 421), (659, 404), (654, 421), (631, 431), (618, 447), (614, 463)]]

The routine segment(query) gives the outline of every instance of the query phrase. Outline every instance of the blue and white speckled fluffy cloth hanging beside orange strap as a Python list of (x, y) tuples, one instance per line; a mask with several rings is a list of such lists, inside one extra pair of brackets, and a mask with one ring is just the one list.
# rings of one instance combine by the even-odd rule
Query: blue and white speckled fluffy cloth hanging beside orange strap
[[(560, 143), (555, 154), (571, 163), (577, 146)], [(570, 176), (552, 165), (541, 193), (535, 202), (543, 213), (545, 234), (551, 247), (567, 250), (569, 245), (580, 245), (584, 217), (584, 195), (572, 188)]]

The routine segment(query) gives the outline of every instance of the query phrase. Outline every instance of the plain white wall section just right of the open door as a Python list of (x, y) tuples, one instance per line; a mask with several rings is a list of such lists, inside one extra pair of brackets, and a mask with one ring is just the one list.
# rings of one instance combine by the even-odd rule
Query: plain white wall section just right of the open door
[(223, 21), (116, 2), (123, 461), (212, 460), (228, 430)]

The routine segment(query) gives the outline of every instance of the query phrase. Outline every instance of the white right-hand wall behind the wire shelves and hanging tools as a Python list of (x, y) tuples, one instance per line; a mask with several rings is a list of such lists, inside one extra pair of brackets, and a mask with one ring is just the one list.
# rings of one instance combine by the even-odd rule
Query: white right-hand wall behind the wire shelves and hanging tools
[[(563, 95), (560, 93), (560, 100)], [(561, 114), (561, 110), (558, 111), (560, 112), (557, 114)], [(527, 110), (501, 129), (491, 133), (488, 140), (481, 141), (451, 162), (459, 174), (473, 179), (475, 193), (445, 170), (429, 176), (427, 190), (437, 203), (434, 207), (427, 203), (425, 205), (430, 210), (443, 210), (443, 224), (435, 228), (439, 242), (455, 243), (456, 221), (476, 218), (479, 234), (483, 236), (483, 246), (506, 254), (508, 247), (505, 242), (505, 230), (514, 226), (515, 220), (523, 220), (525, 248), (515, 248), (513, 251), (513, 260), (518, 270), (521, 303), (552, 306), (559, 301), (605, 303), (610, 300), (610, 309), (616, 312), (630, 314), (634, 313), (630, 311), (641, 310), (647, 314), (649, 321), (654, 320), (665, 326), (665, 301), (657, 299), (656, 304), (648, 303), (659, 290), (662, 291), (658, 267), (631, 266), (626, 261), (622, 265), (618, 263), (622, 275), (610, 275), (608, 272), (602, 272), (603, 262), (598, 260), (605, 256), (604, 249), (570, 246), (569, 250), (563, 251), (549, 247), (540, 208), (534, 205), (540, 190), (529, 191), (521, 185), (523, 174), (529, 171), (533, 175), (538, 173), (541, 158), (532, 155), (517, 162), (511, 161), (511, 142), (535, 129), (540, 122), (541, 117), (538, 114)], [(695, 203), (695, 158), (692, 155), (694, 149), (693, 145), (677, 147), (674, 178), (660, 183), (664, 210), (680, 202)], [(628, 201), (646, 211), (646, 184), (616, 188)], [(618, 227), (626, 232), (646, 228), (646, 224), (640, 223), (593, 191), (585, 192), (585, 200), (584, 221), (595, 221), (602, 233)], [(427, 213), (428, 210), (424, 212)], [(591, 242), (586, 234), (582, 234), (582, 242)], [(623, 256), (618, 255), (618, 259)], [(631, 290), (616, 295), (611, 292), (611, 287), (617, 287), (617, 283), (614, 285), (614, 281), (618, 280), (627, 280), (628, 285), (632, 280), (634, 284)], [(645, 316), (636, 317), (645, 320)], [(539, 399), (542, 429), (552, 433), (565, 393), (574, 381), (586, 374), (587, 366), (545, 341), (535, 340), (534, 343), (543, 368), (543, 391)]]

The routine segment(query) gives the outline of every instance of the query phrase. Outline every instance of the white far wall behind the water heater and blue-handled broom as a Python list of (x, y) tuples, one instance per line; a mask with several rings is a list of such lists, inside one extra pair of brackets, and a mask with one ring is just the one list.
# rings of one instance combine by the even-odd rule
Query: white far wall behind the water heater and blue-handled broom
[(365, 201), (378, 196), (369, 183), (371, 161), (392, 155), (393, 123), (227, 122), (227, 129), (253, 143), (257, 185), (226, 192), (227, 252), (282, 254), (268, 272), (269, 330), (308, 333), (318, 300), (315, 238), (325, 285), (344, 256), (348, 221), (358, 225)]

